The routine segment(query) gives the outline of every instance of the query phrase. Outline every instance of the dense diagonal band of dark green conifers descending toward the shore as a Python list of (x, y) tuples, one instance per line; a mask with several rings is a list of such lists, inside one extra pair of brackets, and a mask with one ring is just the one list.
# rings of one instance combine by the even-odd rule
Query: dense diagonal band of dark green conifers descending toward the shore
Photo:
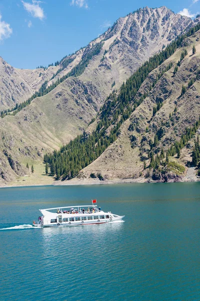
[[(114, 142), (119, 134), (122, 122), (130, 116), (131, 112), (147, 96), (144, 93), (139, 100), (134, 99), (142, 82), (153, 69), (162, 64), (181, 46), (185, 37), (199, 28), (200, 25), (196, 25), (194, 29), (190, 29), (187, 34), (178, 37), (160, 53), (149, 58), (148, 61), (126, 80), (126, 83), (122, 84), (118, 96), (115, 92), (112, 92), (102, 106), (99, 113), (100, 120), (96, 129), (91, 134), (85, 134), (84, 132), (68, 144), (62, 146), (58, 152), (54, 151), (53, 154), (46, 154), (44, 156), (44, 162), (49, 165), (50, 172), (52, 175), (56, 175), (56, 179), (60, 177), (71, 179), (81, 169), (98, 158)], [(108, 127), (110, 127), (109, 133)]]

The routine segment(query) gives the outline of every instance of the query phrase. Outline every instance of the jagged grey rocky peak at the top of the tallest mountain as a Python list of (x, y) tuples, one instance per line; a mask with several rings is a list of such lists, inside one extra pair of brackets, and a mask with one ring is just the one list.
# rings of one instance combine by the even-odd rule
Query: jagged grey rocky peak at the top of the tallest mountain
[(161, 37), (165, 42), (170, 42), (193, 24), (190, 18), (174, 14), (164, 6), (155, 9), (145, 7), (119, 18), (104, 34), (104, 39), (117, 35), (136, 42), (144, 35), (151, 41)]

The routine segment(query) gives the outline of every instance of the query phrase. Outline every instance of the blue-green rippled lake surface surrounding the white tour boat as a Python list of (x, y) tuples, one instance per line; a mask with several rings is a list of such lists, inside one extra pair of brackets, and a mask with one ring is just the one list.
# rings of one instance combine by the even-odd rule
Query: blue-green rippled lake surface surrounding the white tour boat
[[(38, 209), (124, 222), (37, 229)], [(0, 300), (199, 300), (200, 183), (0, 189)]]

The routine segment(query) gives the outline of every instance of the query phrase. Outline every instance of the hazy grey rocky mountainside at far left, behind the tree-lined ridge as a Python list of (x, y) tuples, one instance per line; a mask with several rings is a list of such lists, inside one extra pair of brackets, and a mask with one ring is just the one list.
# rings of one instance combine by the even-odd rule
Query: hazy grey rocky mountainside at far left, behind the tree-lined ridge
[[(13, 109), (16, 104), (26, 101), (41, 88), (45, 81), (48, 85), (54, 78), (66, 74), (81, 60), (82, 50), (63, 58), (56, 66), (45, 68), (17, 69), (0, 58), (0, 111)], [(64, 70), (64, 71), (63, 71)]]

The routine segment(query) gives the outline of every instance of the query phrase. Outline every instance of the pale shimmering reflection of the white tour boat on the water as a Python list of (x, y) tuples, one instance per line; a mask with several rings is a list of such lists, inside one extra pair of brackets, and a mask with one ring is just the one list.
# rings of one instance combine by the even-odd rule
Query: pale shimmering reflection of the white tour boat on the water
[(96, 257), (102, 254), (103, 249), (109, 253), (114, 242), (122, 239), (123, 226), (124, 221), (115, 221), (99, 225), (42, 228), (43, 256), (50, 260), (67, 253), (68, 259), (75, 260), (75, 256), (80, 254)]

